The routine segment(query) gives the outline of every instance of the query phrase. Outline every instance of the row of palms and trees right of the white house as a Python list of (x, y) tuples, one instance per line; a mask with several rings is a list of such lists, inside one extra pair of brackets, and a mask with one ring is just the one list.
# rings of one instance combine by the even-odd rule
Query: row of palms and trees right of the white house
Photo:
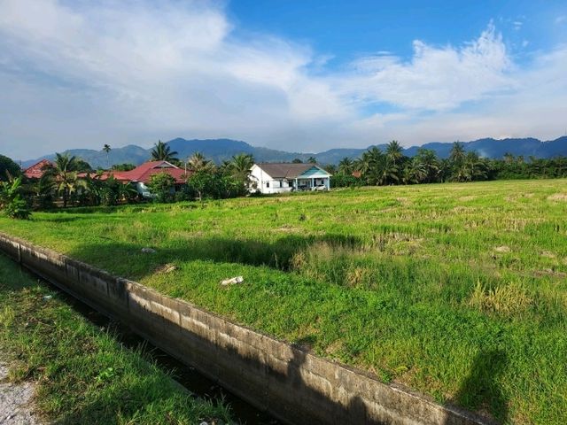
[(448, 158), (435, 151), (419, 149), (407, 157), (397, 141), (385, 151), (377, 147), (365, 151), (361, 158), (343, 158), (338, 166), (329, 166), (333, 174), (331, 187), (419, 184), (434, 182), (479, 182), (486, 180), (567, 177), (567, 158), (534, 158), (526, 160), (507, 153), (501, 159), (482, 158), (476, 151), (465, 151), (455, 142)]

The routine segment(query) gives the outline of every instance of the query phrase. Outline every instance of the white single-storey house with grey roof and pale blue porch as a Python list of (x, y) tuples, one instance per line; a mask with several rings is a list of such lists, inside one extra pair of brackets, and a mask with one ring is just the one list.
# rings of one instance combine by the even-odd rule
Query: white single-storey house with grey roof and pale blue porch
[(329, 190), (330, 174), (316, 164), (254, 164), (251, 191), (283, 193), (291, 190)]

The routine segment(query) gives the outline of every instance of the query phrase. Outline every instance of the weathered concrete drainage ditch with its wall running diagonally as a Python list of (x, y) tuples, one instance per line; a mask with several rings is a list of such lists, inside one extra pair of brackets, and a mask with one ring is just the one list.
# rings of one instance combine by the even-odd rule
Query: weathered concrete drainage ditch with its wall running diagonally
[(488, 423), (55, 251), (4, 234), (0, 251), (288, 423)]

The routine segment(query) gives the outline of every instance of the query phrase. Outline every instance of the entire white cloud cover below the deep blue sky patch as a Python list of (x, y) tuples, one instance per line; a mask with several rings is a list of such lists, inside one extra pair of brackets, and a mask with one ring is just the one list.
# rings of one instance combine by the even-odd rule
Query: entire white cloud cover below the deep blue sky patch
[[(316, 151), (564, 126), (567, 49), (523, 70), (492, 24), (462, 45), (415, 41), (408, 60), (377, 46), (342, 72), (310, 46), (233, 26), (197, 1), (0, 0), (0, 150), (225, 136)], [(375, 104), (398, 112), (369, 116)]]

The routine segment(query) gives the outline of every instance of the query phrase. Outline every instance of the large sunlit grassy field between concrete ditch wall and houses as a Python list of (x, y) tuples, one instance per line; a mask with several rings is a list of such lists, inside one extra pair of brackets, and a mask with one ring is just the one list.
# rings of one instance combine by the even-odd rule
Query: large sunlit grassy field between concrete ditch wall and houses
[(565, 180), (36, 213), (0, 230), (441, 402), (567, 423)]

